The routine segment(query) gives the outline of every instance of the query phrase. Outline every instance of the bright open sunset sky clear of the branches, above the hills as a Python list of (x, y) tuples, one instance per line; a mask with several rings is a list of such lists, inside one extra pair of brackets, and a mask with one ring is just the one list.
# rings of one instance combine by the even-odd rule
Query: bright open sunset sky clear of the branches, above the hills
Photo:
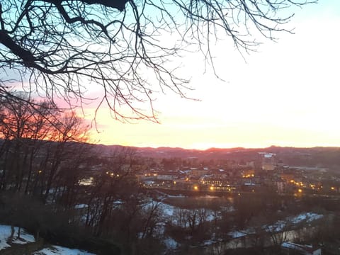
[[(191, 101), (159, 94), (160, 124), (119, 123), (101, 109), (95, 142), (137, 147), (340, 146), (340, 1), (319, 0), (295, 11), (277, 42), (262, 40), (244, 58), (220, 41), (215, 67), (204, 72), (199, 53), (183, 57)], [(147, 106), (146, 106), (147, 107)], [(93, 118), (92, 108), (86, 118)]]

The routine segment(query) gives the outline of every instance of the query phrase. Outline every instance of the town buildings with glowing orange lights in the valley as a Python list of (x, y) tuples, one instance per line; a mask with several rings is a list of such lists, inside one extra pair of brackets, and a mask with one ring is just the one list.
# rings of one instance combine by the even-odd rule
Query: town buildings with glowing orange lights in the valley
[(329, 183), (327, 169), (288, 166), (273, 153), (259, 152), (258, 158), (242, 160), (145, 159), (147, 167), (136, 176), (146, 188), (178, 191), (332, 193), (339, 186)]

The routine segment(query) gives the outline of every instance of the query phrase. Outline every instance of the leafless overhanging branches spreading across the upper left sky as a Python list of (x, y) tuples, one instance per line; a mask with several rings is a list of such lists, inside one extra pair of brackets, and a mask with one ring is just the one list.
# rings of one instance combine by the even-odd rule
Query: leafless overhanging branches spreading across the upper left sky
[(186, 97), (174, 64), (183, 50), (210, 62), (217, 35), (254, 50), (259, 34), (286, 30), (292, 6), (307, 3), (296, 1), (1, 0), (0, 96), (20, 85), (81, 105), (86, 89), (100, 88), (93, 97), (115, 118), (152, 120), (154, 92)]

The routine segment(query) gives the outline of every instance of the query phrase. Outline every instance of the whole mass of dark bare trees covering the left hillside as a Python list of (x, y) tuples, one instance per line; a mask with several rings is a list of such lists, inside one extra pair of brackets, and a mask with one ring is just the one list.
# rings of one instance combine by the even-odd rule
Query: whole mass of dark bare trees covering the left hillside
[(133, 254), (152, 243), (156, 211), (143, 210), (135, 150), (119, 147), (103, 157), (88, 143), (88, 130), (72, 111), (1, 98), (1, 223), (96, 254)]

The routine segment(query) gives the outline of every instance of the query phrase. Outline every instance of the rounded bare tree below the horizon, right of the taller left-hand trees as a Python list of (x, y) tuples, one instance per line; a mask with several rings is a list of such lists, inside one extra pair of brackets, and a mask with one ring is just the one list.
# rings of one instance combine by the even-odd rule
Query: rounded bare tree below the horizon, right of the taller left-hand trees
[(102, 159), (101, 169), (94, 171), (92, 185), (87, 188), (85, 224), (97, 236), (113, 230), (115, 210), (137, 196), (139, 186), (132, 174), (134, 156), (135, 149), (120, 147)]

